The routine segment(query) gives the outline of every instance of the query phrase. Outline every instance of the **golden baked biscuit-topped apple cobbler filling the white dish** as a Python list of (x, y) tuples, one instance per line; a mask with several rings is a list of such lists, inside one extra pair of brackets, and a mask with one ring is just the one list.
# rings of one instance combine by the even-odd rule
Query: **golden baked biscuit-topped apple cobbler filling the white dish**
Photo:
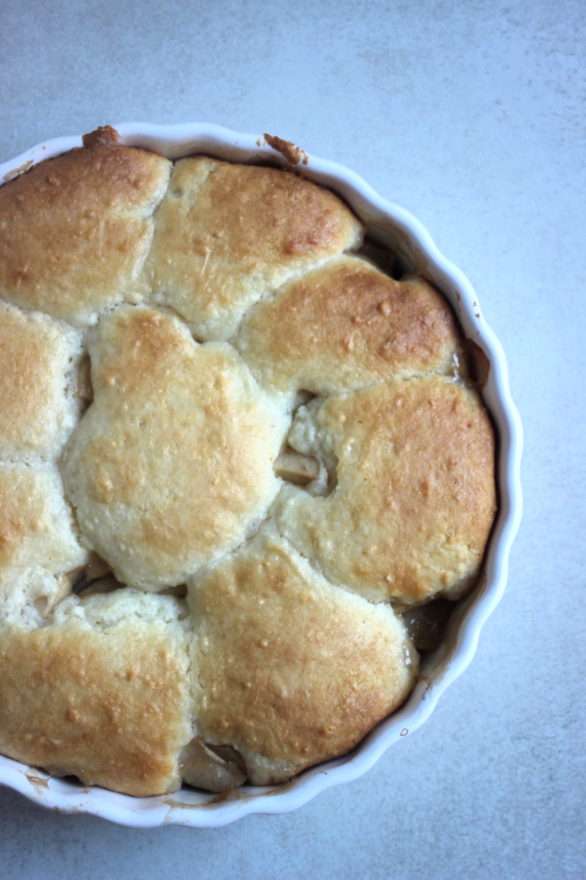
[(444, 297), (364, 236), (300, 173), (112, 128), (0, 188), (0, 752), (221, 792), (406, 700), (495, 441)]

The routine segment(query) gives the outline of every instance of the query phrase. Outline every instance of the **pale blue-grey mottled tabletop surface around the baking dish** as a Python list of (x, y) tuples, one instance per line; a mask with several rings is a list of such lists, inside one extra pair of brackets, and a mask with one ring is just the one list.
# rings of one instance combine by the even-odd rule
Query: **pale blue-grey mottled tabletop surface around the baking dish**
[(525, 424), (525, 517), (474, 664), (296, 813), (132, 832), (0, 790), (4, 877), (586, 876), (583, 0), (5, 5), (0, 156), (106, 121), (269, 131), (412, 210), (470, 277)]

